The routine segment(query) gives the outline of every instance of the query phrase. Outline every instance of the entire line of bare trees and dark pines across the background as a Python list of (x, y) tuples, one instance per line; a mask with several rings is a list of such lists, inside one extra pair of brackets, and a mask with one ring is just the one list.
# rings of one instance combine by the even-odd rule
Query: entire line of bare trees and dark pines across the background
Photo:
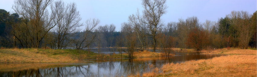
[[(81, 23), (76, 3), (51, 0), (15, 0), (10, 14), (0, 9), (0, 47), (83, 49), (126, 47), (146, 50), (184, 48), (256, 48), (256, 12), (232, 11), (218, 21), (199, 22), (196, 16), (163, 23), (166, 0), (142, 0), (144, 10), (129, 15), (121, 31), (99, 19)], [(158, 4), (157, 6), (155, 5)], [(150, 8), (151, 7), (151, 8)], [(10, 7), (11, 8), (11, 7)], [(135, 8), (136, 9), (136, 8)], [(99, 26), (99, 27), (96, 27)], [(81, 29), (82, 28), (82, 29)], [(135, 49), (136, 48), (136, 49)]]

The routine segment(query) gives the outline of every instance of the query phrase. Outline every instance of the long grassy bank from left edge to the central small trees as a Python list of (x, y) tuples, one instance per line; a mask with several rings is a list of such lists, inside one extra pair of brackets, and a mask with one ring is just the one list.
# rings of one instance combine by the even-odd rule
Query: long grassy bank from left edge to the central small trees
[[(134, 58), (159, 57), (160, 53), (135, 52)], [(0, 63), (78, 63), (85, 59), (129, 58), (127, 54), (100, 54), (76, 49), (0, 49)]]

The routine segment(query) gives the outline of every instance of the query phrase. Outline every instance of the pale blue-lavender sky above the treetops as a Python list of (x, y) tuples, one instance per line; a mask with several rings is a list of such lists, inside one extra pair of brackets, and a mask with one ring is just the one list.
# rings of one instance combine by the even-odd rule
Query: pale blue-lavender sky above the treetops
[[(54, 0), (57, 1), (57, 0)], [(75, 2), (82, 20), (98, 18), (99, 25), (114, 24), (120, 31), (121, 23), (128, 22), (129, 15), (136, 14), (137, 8), (142, 15), (141, 0), (63, 0)], [(14, 13), (14, 0), (0, 0), (0, 9)], [(167, 13), (161, 18), (164, 24), (178, 22), (179, 18), (197, 16), (200, 22), (218, 21), (231, 11), (248, 11), (253, 14), (257, 10), (257, 0), (167, 0)], [(85, 27), (81, 27), (85, 28)]]

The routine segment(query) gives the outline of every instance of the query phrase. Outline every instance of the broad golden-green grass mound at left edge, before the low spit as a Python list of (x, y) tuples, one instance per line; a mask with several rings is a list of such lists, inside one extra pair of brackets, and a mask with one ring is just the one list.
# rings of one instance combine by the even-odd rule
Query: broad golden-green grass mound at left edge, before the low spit
[(79, 62), (78, 55), (67, 52), (54, 49), (0, 49), (0, 63)]

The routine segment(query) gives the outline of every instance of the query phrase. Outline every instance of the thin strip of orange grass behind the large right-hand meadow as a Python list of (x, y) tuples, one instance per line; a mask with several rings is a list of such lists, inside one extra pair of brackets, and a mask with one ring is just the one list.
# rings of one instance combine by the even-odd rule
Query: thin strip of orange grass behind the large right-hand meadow
[(242, 55), (242, 54), (247, 54), (247, 55), (256, 55), (257, 51), (256, 50), (251, 50), (251, 49), (215, 49), (215, 50), (202, 50), (200, 51), (202, 54), (229, 54), (229, 55)]

